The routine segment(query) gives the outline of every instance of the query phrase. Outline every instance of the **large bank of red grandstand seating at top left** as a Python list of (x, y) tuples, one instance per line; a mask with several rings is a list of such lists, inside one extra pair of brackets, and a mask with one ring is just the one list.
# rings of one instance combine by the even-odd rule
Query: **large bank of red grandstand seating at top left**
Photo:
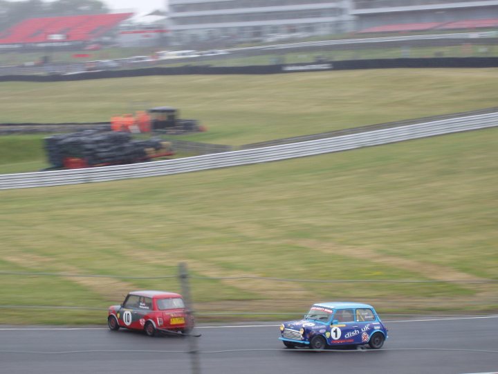
[(113, 13), (26, 19), (0, 33), (0, 44), (46, 42), (49, 35), (54, 34), (66, 35), (70, 42), (86, 41), (99, 37), (132, 15)]

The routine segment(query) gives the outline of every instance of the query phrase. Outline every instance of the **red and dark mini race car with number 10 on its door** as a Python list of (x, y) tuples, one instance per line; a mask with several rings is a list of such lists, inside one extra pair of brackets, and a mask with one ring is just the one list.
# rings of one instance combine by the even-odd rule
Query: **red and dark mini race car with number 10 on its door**
[(194, 320), (185, 310), (180, 294), (134, 291), (127, 295), (121, 305), (109, 307), (107, 324), (113, 331), (120, 327), (144, 330), (152, 337), (158, 330), (187, 334), (194, 327)]

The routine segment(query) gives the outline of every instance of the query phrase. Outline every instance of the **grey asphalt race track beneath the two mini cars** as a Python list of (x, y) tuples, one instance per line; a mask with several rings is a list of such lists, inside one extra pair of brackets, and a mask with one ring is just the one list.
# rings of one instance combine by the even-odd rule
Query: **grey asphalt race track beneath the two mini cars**
[[(496, 373), (498, 316), (385, 321), (381, 350), (286, 349), (277, 325), (200, 326), (201, 373)], [(0, 327), (0, 373), (191, 373), (185, 337)]]

